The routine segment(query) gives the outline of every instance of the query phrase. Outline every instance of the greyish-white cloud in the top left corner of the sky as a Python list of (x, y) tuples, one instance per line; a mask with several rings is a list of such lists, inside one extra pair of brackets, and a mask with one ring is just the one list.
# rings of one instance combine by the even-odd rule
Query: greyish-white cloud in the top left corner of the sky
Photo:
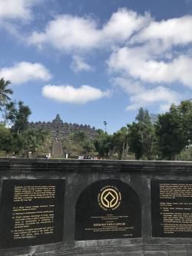
[(31, 18), (31, 8), (41, 0), (0, 0), (0, 19)]

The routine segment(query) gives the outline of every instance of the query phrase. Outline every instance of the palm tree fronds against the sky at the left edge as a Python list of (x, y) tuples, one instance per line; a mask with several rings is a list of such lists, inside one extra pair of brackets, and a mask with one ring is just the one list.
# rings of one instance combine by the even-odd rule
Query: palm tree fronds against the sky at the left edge
[(12, 95), (12, 89), (8, 89), (8, 85), (11, 84), (11, 81), (5, 81), (4, 78), (0, 79), (0, 110), (2, 110), (2, 106), (4, 106), (11, 98), (8, 95)]

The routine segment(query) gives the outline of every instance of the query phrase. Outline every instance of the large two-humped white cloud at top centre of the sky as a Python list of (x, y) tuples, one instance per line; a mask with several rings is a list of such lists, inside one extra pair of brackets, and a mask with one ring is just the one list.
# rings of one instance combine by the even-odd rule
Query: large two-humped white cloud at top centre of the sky
[(124, 42), (134, 32), (140, 30), (150, 21), (149, 15), (137, 15), (136, 12), (121, 8), (111, 19), (98, 28), (98, 22), (84, 16), (60, 15), (48, 22), (44, 32), (33, 32), (28, 43), (41, 47), (51, 47), (66, 52), (102, 48)]

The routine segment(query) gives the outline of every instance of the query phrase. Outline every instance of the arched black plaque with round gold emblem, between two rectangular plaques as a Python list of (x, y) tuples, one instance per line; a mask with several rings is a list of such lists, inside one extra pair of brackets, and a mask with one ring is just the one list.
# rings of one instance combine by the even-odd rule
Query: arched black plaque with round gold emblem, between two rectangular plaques
[(78, 198), (75, 214), (76, 241), (141, 237), (139, 197), (122, 181), (89, 185)]

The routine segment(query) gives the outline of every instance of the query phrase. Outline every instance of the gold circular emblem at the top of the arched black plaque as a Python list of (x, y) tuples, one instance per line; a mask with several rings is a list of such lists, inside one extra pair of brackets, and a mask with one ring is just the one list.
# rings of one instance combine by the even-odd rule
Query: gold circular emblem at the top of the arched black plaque
[(98, 194), (98, 204), (104, 210), (115, 210), (121, 204), (121, 193), (118, 188), (108, 185), (101, 188)]

